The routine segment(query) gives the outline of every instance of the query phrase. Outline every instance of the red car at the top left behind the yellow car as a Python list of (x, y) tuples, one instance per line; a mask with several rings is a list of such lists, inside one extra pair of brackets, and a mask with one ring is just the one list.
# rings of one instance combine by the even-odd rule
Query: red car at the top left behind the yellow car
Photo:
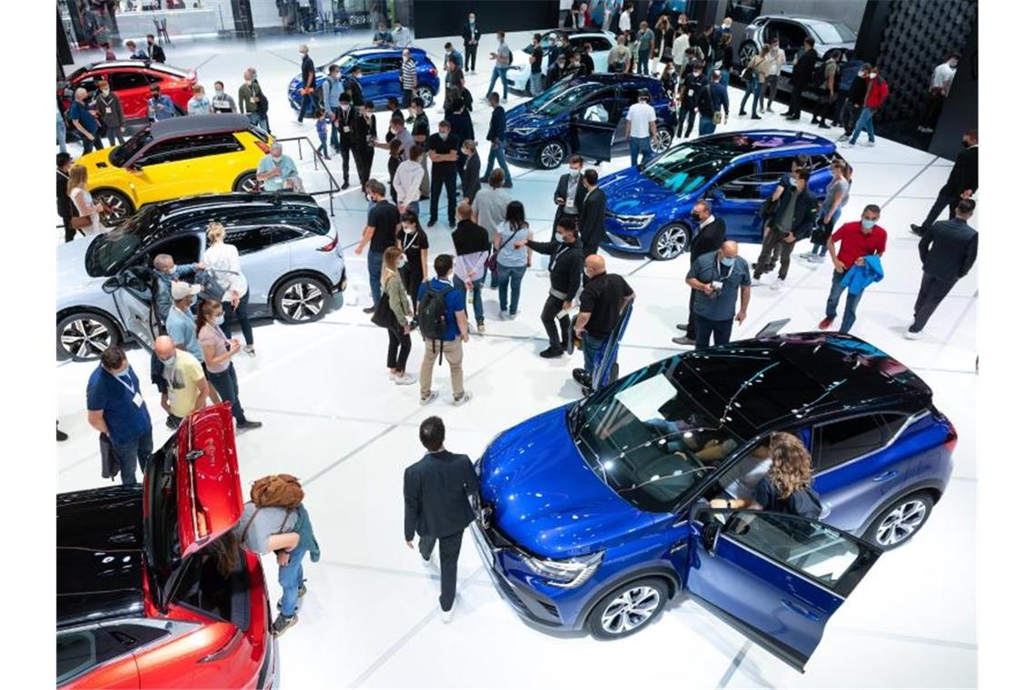
[(171, 67), (162, 62), (146, 60), (95, 62), (80, 67), (68, 76), (67, 84), (59, 92), (62, 108), (67, 110), (71, 106), (73, 93), (79, 87), (86, 89), (92, 97), (100, 79), (108, 81), (112, 91), (122, 101), (122, 111), (127, 120), (147, 119), (147, 99), (151, 95), (152, 84), (157, 84), (159, 90), (172, 98), (180, 109), (181, 115), (185, 114), (188, 100), (194, 95), (192, 89), (198, 83), (198, 74), (194, 69)]

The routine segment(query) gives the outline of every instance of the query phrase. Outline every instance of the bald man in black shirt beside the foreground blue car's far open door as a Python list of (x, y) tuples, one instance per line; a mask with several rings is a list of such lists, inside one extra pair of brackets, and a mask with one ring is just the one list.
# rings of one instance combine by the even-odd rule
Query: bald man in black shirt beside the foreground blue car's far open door
[(575, 334), (582, 339), (583, 368), (572, 371), (572, 378), (593, 392), (594, 369), (612, 331), (618, 326), (623, 310), (636, 295), (621, 275), (605, 270), (604, 257), (591, 254), (583, 262), (586, 284), (579, 296), (579, 316)]

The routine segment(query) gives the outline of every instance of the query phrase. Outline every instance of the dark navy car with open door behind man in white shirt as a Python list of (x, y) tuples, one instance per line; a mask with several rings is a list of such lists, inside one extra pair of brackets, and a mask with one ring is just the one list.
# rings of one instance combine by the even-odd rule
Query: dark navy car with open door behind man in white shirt
[(569, 155), (611, 160), (629, 152), (626, 114), (640, 89), (651, 91), (658, 117), (656, 154), (669, 148), (677, 130), (677, 109), (662, 83), (636, 74), (589, 74), (563, 79), (507, 113), (503, 155), (508, 162), (552, 170)]

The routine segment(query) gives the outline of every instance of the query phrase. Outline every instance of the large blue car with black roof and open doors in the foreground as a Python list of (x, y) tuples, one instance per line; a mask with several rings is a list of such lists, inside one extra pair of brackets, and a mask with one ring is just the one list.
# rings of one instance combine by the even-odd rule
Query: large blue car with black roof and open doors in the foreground
[[(710, 508), (757, 481), (774, 431), (810, 449), (819, 519)], [(624, 637), (687, 590), (801, 670), (882, 551), (925, 523), (955, 445), (924, 382), (856, 337), (743, 340), (500, 433), (477, 466), (472, 532), (535, 624)]]

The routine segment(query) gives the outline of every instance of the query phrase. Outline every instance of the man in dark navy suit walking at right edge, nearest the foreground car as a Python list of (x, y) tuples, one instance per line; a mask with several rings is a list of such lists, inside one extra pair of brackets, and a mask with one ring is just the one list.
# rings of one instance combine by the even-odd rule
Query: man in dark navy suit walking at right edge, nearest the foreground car
[(914, 303), (914, 323), (903, 337), (921, 337), (928, 319), (934, 313), (957, 280), (968, 275), (978, 257), (978, 233), (968, 224), (975, 212), (974, 199), (961, 199), (952, 220), (940, 220), (925, 232), (918, 245), (921, 252), (921, 290)]

